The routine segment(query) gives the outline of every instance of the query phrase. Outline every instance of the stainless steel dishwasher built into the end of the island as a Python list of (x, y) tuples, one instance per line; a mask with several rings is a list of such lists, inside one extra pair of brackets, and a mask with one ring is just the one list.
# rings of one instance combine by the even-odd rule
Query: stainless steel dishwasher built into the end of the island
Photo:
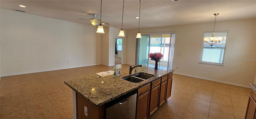
[(135, 119), (137, 91), (127, 93), (107, 103), (106, 119)]

